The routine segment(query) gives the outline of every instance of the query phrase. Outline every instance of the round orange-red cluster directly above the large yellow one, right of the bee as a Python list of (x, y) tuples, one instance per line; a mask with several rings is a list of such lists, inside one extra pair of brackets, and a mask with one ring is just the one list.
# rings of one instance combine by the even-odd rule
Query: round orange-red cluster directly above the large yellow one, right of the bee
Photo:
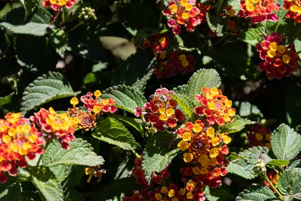
[(224, 96), (220, 89), (203, 87), (202, 92), (200, 95), (195, 95), (197, 102), (201, 104), (200, 107), (194, 108), (196, 115), (204, 115), (210, 125), (217, 123), (219, 126), (225, 126), (225, 122), (233, 120), (232, 117), (236, 111), (231, 108), (232, 101), (228, 100), (227, 96)]

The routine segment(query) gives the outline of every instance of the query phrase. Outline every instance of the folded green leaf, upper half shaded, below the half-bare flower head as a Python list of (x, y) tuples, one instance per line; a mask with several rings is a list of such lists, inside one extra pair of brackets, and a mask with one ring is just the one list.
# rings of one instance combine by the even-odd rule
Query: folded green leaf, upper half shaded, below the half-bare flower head
[(109, 117), (95, 127), (92, 136), (125, 150), (140, 148), (128, 130), (120, 122)]

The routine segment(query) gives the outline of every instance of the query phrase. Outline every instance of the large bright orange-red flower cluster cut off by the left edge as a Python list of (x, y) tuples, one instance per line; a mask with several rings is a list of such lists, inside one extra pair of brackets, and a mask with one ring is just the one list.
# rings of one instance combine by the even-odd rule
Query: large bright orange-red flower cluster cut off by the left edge
[(7, 181), (4, 172), (16, 176), (18, 167), (27, 167), (25, 158), (31, 161), (44, 153), (42, 133), (21, 113), (9, 113), (0, 120), (0, 137), (0, 183)]

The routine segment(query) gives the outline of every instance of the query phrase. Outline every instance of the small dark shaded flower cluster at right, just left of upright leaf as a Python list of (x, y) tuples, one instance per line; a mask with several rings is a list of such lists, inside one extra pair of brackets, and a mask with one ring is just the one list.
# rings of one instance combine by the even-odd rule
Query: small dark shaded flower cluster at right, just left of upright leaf
[(251, 128), (252, 130), (247, 134), (249, 145), (248, 147), (261, 146), (271, 148), (271, 135), (270, 129), (261, 126), (260, 124), (255, 124)]

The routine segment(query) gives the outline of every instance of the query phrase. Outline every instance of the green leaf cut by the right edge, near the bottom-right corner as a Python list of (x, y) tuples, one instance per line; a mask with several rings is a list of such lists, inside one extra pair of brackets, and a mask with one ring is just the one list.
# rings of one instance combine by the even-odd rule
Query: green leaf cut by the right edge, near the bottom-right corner
[(283, 172), (278, 179), (278, 189), (282, 194), (296, 194), (301, 190), (301, 169), (294, 168)]

